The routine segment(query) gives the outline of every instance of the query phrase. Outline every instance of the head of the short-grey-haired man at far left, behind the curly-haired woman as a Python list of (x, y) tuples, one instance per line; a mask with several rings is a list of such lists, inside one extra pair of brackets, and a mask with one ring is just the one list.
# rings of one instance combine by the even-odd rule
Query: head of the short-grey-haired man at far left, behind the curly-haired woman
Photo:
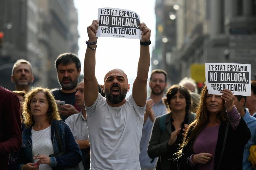
[(17, 60), (12, 67), (11, 80), (15, 83), (17, 91), (28, 92), (30, 84), (34, 81), (31, 63), (24, 59)]

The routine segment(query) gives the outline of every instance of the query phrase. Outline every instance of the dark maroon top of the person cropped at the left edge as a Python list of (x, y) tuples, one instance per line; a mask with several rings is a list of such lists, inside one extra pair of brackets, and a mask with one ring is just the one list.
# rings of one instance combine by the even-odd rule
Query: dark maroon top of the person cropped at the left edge
[(8, 169), (9, 154), (22, 144), (20, 102), (17, 95), (0, 86), (0, 169)]

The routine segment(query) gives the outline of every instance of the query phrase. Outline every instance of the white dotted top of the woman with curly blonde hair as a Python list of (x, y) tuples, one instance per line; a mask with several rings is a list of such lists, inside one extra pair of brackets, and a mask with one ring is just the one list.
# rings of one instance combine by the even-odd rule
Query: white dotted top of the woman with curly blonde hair
[[(32, 154), (46, 155), (49, 156), (53, 154), (53, 146), (51, 140), (51, 126), (43, 130), (33, 130), (31, 129), (31, 139), (32, 139)], [(33, 163), (36, 163), (39, 159), (33, 159)], [(40, 164), (39, 169), (52, 169), (51, 166), (46, 164)]]

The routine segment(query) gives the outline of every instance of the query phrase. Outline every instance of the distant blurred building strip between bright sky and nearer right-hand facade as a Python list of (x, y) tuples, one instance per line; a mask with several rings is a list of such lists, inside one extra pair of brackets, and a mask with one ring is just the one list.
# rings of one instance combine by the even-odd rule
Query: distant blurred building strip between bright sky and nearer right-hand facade
[[(170, 19), (170, 15), (176, 16), (176, 10), (173, 9), (174, 1), (156, 0), (156, 45), (152, 52), (151, 63), (152, 70), (164, 69), (168, 73), (174, 73), (171, 61), (171, 53), (176, 48), (176, 29), (175, 19)], [(175, 79), (175, 74), (168, 74), (167, 83)]]

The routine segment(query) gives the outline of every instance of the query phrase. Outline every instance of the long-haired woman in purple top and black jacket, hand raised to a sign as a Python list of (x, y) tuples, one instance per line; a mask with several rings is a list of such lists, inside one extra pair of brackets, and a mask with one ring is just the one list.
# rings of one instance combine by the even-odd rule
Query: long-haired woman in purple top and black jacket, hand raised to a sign
[(242, 169), (244, 146), (251, 137), (249, 128), (234, 106), (234, 95), (201, 91), (196, 119), (184, 137), (176, 169)]

